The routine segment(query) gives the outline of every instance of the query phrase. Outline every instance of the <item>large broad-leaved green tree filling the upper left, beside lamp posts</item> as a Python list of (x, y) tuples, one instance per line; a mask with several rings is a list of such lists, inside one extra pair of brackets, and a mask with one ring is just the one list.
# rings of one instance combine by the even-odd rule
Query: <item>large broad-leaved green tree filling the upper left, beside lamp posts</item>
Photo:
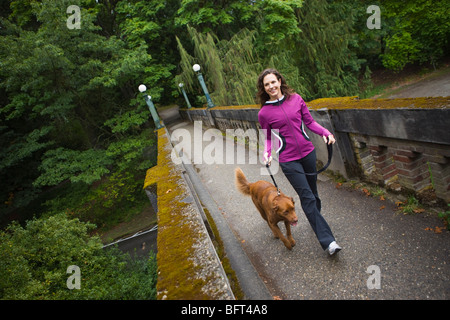
[[(81, 7), (80, 29), (67, 28), (69, 5)], [(102, 35), (97, 22), (110, 23), (99, 21), (95, 1), (18, 0), (11, 8), (0, 20), (2, 212), (47, 186), (91, 184), (115, 170), (122, 154), (108, 152), (110, 144), (118, 150), (126, 137), (145, 139), (151, 125), (137, 86), (146, 83), (158, 99), (171, 68), (152, 64), (145, 42)]]

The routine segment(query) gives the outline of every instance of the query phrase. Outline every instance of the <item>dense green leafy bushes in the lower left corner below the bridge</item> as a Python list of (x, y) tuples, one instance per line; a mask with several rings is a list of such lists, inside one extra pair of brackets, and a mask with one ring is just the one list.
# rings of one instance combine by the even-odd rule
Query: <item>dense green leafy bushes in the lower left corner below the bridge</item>
[[(104, 250), (92, 228), (57, 214), (0, 232), (0, 298), (155, 299), (155, 257), (133, 262)], [(67, 288), (71, 265), (80, 268), (80, 289)]]

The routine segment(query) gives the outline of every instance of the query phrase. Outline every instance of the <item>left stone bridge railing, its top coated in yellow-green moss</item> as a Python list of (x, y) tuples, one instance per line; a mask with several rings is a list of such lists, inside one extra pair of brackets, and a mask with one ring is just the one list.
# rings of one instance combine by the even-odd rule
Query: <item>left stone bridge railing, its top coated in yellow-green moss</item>
[(182, 164), (173, 161), (166, 128), (157, 131), (157, 165), (147, 171), (144, 189), (155, 195), (158, 213), (159, 300), (235, 298), (204, 213), (196, 202)]

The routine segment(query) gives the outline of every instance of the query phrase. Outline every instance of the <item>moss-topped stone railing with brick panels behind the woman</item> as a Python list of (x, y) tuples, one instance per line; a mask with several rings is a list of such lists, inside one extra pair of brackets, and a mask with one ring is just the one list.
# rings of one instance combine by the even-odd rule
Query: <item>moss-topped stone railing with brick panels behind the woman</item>
[[(450, 97), (318, 99), (312, 116), (337, 138), (330, 169), (388, 189), (432, 194), (450, 202)], [(182, 118), (205, 127), (260, 129), (258, 105), (182, 109)], [(326, 162), (321, 138), (310, 134), (317, 157)], [(250, 135), (249, 139), (258, 139)]]

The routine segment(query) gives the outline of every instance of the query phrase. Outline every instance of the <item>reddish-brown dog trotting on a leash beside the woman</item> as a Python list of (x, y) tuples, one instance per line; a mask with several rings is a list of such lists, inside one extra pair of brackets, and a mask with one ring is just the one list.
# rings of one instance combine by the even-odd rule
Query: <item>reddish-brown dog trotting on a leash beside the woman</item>
[[(278, 195), (277, 188), (263, 180), (250, 183), (247, 181), (240, 168), (236, 168), (236, 188), (243, 194), (251, 196), (253, 203), (258, 209), (261, 217), (267, 221), (275, 238), (283, 241), (289, 250), (295, 246), (295, 240), (291, 234), (291, 225), (295, 226), (298, 222), (294, 210), (294, 199), (288, 197), (282, 192)], [(278, 228), (278, 222), (283, 221), (286, 226), (286, 236)]]

